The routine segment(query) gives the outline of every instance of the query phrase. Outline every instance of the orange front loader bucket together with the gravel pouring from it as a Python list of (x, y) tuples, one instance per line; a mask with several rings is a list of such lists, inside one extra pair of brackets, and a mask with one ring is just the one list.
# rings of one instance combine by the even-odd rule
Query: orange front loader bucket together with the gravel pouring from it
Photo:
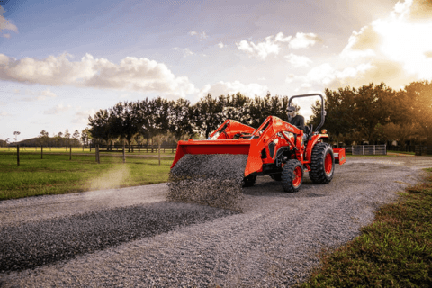
[(257, 140), (179, 141), (166, 198), (241, 211), (244, 179), (262, 169)]

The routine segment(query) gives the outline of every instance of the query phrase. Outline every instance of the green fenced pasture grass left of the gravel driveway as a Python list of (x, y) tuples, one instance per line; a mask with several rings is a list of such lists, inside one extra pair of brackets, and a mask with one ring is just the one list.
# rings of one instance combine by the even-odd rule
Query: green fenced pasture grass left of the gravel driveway
[(49, 154), (44, 150), (40, 159), (40, 150), (34, 153), (34, 149), (20, 148), (20, 166), (17, 166), (16, 149), (1, 149), (0, 200), (162, 183), (167, 181), (174, 160), (174, 154), (165, 154), (159, 166), (156, 154), (143, 157), (126, 153), (123, 164), (122, 157), (115, 153), (101, 153), (101, 164), (97, 164), (94, 155), (76, 152), (69, 160), (68, 153), (56, 155), (57, 151)]

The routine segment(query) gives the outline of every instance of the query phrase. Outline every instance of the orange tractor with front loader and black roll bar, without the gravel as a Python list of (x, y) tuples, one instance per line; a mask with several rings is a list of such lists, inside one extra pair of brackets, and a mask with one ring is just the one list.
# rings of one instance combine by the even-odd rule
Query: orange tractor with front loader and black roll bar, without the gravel
[[(320, 96), (321, 121), (313, 130), (303, 130), (275, 116), (267, 117), (254, 129), (238, 121), (227, 120), (211, 133), (209, 139), (179, 141), (171, 168), (186, 154), (243, 154), (247, 155), (244, 186), (255, 184), (257, 175), (270, 175), (281, 181), (285, 192), (297, 192), (302, 186), (303, 172), (309, 171), (313, 183), (328, 184), (334, 175), (335, 163), (346, 161), (345, 149), (333, 149), (323, 140), (327, 130), (319, 130), (324, 124), (326, 112), (321, 94), (296, 95), (290, 98), (288, 111), (293, 112), (294, 98)], [(289, 117), (290, 118), (290, 117)]]

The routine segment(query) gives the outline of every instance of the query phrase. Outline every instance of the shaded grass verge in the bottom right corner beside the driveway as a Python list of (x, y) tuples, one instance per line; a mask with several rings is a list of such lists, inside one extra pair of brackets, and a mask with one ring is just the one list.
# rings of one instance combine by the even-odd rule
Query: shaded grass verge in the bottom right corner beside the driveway
[(321, 260), (302, 287), (432, 287), (432, 177), (401, 193), (361, 236)]

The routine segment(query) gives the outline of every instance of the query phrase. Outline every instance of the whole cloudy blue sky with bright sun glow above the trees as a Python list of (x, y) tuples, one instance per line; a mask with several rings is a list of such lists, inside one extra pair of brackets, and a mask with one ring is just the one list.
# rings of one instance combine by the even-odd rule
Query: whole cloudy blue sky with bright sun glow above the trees
[(146, 97), (399, 90), (432, 79), (431, 31), (432, 0), (0, 0), (0, 139)]

